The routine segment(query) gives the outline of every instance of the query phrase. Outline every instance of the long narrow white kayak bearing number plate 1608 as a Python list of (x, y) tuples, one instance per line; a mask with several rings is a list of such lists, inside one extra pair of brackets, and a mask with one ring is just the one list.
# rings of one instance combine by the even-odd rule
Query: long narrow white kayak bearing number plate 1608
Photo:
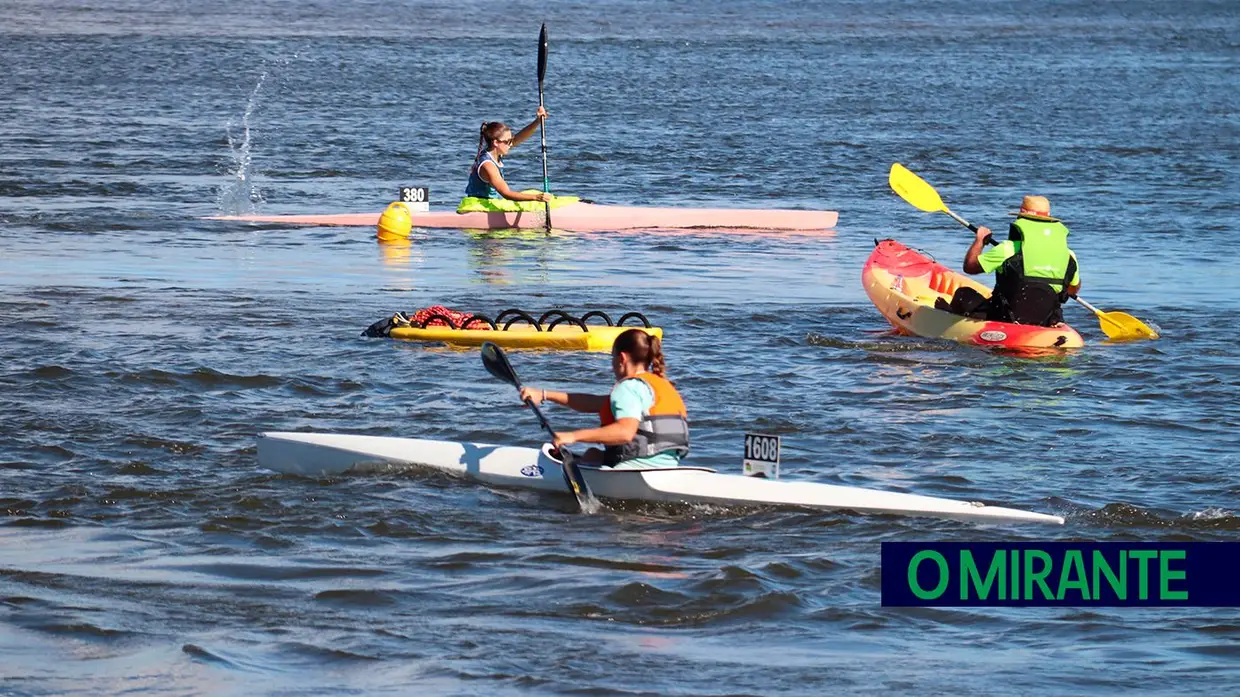
[[(264, 433), (258, 439), (258, 464), (273, 471), (304, 476), (346, 471), (425, 466), (505, 487), (568, 494), (558, 460), (542, 449), (378, 435), (330, 433)], [(968, 521), (1021, 521), (1063, 525), (1064, 518), (987, 506), (985, 504), (837, 486), (812, 481), (758, 479), (719, 474), (703, 468), (614, 470), (582, 468), (600, 499), (795, 506)]]

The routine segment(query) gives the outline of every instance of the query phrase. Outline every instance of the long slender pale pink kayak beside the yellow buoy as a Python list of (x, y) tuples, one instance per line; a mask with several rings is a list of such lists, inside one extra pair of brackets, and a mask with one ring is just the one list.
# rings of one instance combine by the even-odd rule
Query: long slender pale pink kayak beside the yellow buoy
[[(374, 227), (382, 213), (336, 213), (309, 216), (212, 216), (212, 221), (289, 223), (309, 226)], [(541, 228), (542, 212), (413, 212), (413, 227), (455, 229)], [(613, 232), (625, 229), (768, 229), (825, 231), (836, 226), (835, 211), (794, 211), (780, 208), (655, 208), (642, 206), (600, 206), (569, 203), (552, 208), (556, 229), (570, 232)]]

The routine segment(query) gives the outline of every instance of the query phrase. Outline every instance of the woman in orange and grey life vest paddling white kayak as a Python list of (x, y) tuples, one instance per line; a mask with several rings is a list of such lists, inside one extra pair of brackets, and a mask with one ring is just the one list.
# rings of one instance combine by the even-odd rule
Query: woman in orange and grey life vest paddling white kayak
[(611, 346), (610, 394), (552, 392), (523, 387), (521, 399), (554, 402), (577, 412), (599, 414), (599, 428), (560, 432), (552, 444), (598, 443), (582, 464), (620, 469), (675, 468), (689, 451), (684, 402), (663, 376), (663, 347), (657, 336), (630, 329)]

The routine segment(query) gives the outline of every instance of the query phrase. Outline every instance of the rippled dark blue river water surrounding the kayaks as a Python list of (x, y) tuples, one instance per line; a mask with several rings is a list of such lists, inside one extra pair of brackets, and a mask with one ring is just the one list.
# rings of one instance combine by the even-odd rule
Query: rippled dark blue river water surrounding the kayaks
[[(1203, 693), (1230, 609), (879, 606), (888, 539), (1236, 539), (1234, 2), (0, 4), (0, 693)], [(448, 206), (534, 38), (559, 191), (838, 210), (833, 237), (415, 234), (219, 212)], [(1083, 296), (1157, 342), (1039, 361), (883, 334), (859, 270), (1074, 231)], [(510, 181), (533, 186), (537, 149)], [(238, 176), (242, 175), (242, 176)], [(409, 473), (304, 480), (254, 435), (532, 444), (474, 353), (365, 340), (443, 303), (640, 309), (693, 463), (1004, 502), (1063, 528), (565, 502)], [(596, 355), (526, 352), (598, 389)], [(563, 412), (557, 423), (584, 425)]]

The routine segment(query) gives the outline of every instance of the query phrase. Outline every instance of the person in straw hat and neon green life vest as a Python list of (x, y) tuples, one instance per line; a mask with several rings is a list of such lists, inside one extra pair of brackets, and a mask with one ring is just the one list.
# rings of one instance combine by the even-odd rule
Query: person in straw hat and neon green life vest
[(1045, 196), (1025, 196), (1008, 238), (982, 252), (991, 231), (977, 228), (965, 253), (965, 273), (994, 272), (994, 290), (982, 298), (972, 288), (960, 288), (940, 310), (1001, 322), (1055, 326), (1064, 321), (1063, 304), (1080, 290), (1076, 254), (1068, 248), (1068, 227), (1050, 216)]

